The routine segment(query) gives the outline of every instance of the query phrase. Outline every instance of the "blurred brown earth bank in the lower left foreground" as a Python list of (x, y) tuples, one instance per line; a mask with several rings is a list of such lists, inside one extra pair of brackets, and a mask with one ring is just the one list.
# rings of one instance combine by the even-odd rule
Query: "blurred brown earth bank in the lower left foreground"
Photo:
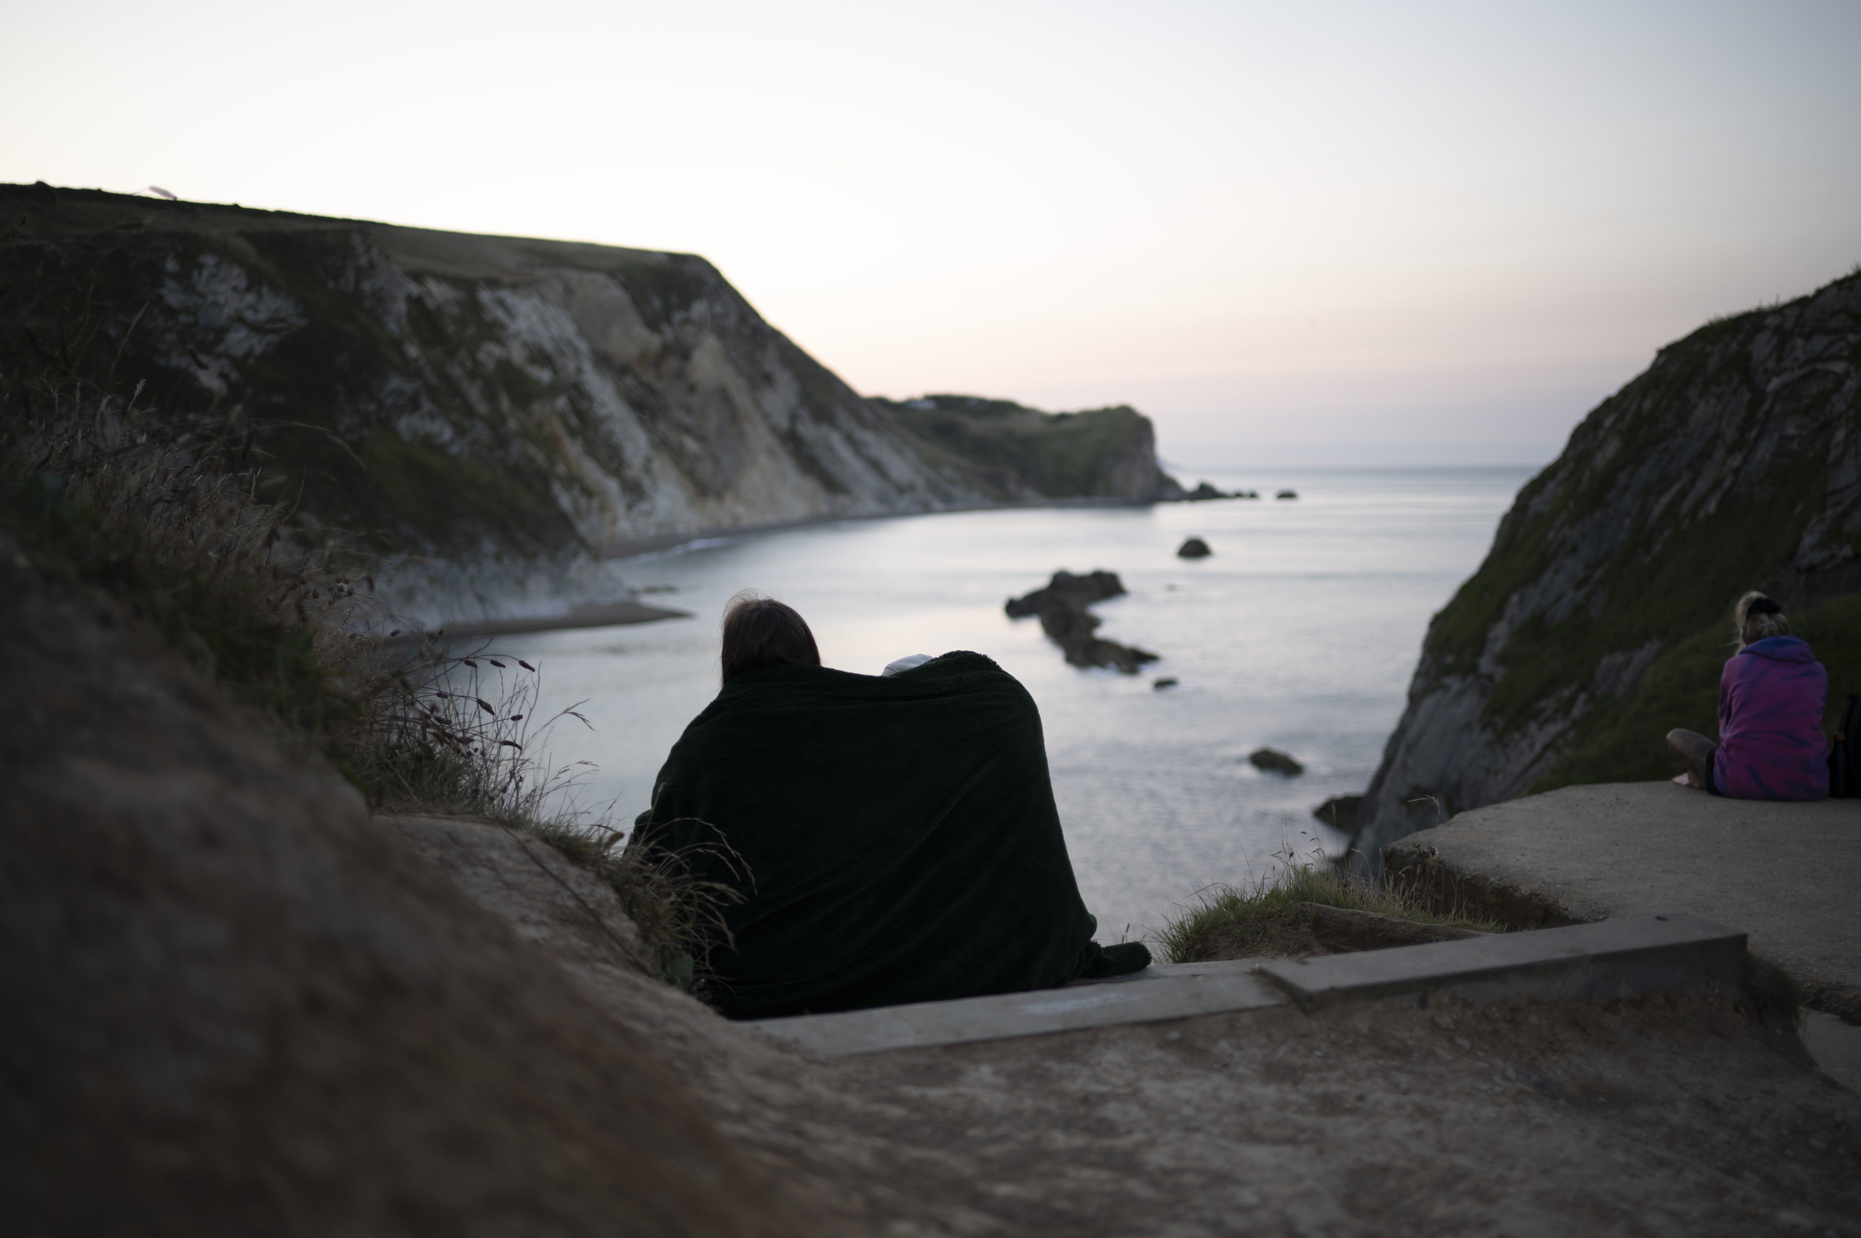
[(352, 787), (4, 534), (0, 598), (7, 1232), (824, 1223)]

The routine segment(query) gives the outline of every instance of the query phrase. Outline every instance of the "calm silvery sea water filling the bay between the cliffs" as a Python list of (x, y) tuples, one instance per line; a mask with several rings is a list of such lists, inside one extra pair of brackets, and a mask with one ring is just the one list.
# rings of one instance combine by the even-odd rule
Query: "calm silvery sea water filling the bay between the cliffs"
[[(1100, 940), (1156, 929), (1275, 854), (1336, 853), (1312, 817), (1362, 791), (1403, 709), (1429, 616), (1493, 540), (1528, 467), (1210, 475), (1258, 501), (957, 512), (849, 521), (692, 545), (618, 566), (648, 601), (696, 618), (501, 639), (540, 665), (556, 763), (594, 761), (582, 804), (631, 819), (685, 724), (716, 694), (718, 618), (739, 590), (797, 607), (828, 666), (878, 674), (904, 653), (977, 650), (1033, 693), (1053, 793)], [(1295, 488), (1297, 501), (1275, 501)], [(1200, 536), (1213, 555), (1176, 558)], [(1068, 666), (1038, 620), (1001, 603), (1066, 568), (1105, 568), (1130, 596), (1100, 633), (1163, 655), (1141, 676)], [(1154, 689), (1163, 676), (1176, 687)], [(1303, 776), (1262, 774), (1271, 745)]]

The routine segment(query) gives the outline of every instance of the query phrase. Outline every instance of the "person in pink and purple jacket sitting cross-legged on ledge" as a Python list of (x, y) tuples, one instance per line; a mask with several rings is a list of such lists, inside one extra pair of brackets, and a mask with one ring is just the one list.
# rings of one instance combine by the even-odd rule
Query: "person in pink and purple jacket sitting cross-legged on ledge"
[(1733, 618), (1738, 652), (1720, 676), (1720, 741), (1667, 732), (1667, 748), (1686, 761), (1675, 782), (1731, 799), (1826, 799), (1829, 672), (1764, 594), (1740, 598)]

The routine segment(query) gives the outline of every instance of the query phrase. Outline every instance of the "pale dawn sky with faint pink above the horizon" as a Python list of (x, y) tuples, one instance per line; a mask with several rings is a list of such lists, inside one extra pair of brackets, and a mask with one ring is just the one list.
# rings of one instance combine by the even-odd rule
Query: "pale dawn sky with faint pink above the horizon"
[(1861, 4), (11, 0), (0, 181), (702, 253), (860, 391), (1537, 464), (1861, 261)]

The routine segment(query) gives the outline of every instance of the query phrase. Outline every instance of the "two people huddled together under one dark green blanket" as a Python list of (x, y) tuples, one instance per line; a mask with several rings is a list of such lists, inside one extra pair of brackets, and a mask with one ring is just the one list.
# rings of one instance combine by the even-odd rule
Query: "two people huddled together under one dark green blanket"
[[(672, 747), (631, 847), (730, 892), (705, 972), (731, 1018), (1053, 989), (1150, 964), (1098, 946), (1040, 711), (981, 653), (821, 665), (791, 607), (739, 596), (722, 691)], [(730, 901), (733, 895), (739, 901)]]

